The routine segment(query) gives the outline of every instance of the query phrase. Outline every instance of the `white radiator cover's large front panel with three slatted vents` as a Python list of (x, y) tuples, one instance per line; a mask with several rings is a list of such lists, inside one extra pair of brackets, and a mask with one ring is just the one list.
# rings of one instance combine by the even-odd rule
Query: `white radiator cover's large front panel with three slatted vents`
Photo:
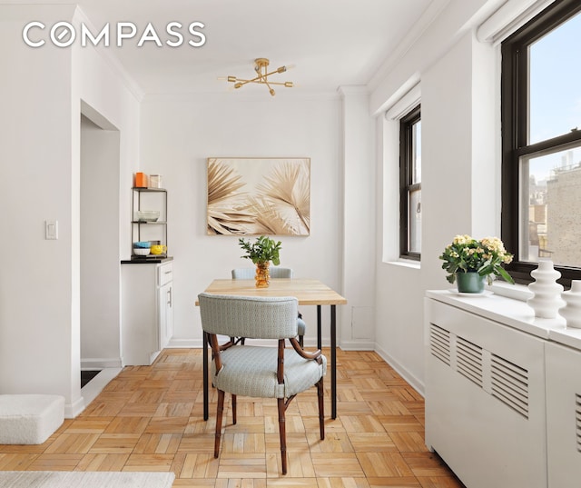
[(545, 339), (431, 298), (425, 307), (428, 447), (469, 488), (547, 487)]

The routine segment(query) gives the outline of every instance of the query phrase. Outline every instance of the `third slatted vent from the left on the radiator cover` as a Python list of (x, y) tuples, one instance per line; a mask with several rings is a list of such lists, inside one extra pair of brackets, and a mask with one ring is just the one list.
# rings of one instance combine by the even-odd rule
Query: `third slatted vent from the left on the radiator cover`
[(490, 376), (492, 395), (528, 418), (528, 371), (492, 354)]

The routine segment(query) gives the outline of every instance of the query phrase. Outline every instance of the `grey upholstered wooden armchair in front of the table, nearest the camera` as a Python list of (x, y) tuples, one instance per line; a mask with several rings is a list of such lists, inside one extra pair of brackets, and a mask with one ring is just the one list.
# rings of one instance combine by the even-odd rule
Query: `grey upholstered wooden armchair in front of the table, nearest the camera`
[[(212, 346), (212, 383), (218, 390), (214, 457), (220, 453), (224, 395), (231, 393), (232, 422), (236, 396), (276, 398), (279, 410), (282, 474), (287, 473), (285, 413), (291, 400), (317, 386), (320, 439), (325, 438), (323, 376), (327, 359), (306, 353), (297, 336), (297, 299), (199, 294), (203, 331)], [(218, 335), (277, 339), (278, 346), (218, 343)], [(286, 340), (292, 348), (285, 348)]]

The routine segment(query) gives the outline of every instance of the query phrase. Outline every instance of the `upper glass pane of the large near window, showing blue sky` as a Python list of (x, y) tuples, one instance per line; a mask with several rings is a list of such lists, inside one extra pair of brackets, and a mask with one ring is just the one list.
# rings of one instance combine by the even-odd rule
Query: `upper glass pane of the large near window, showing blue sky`
[(529, 143), (581, 130), (581, 14), (529, 46)]

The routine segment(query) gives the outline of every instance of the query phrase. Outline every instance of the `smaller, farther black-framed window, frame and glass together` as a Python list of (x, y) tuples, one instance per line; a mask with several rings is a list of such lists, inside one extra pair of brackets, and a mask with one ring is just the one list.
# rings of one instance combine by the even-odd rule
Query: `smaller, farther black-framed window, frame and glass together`
[(421, 118), (419, 105), (399, 123), (399, 255), (421, 253)]

